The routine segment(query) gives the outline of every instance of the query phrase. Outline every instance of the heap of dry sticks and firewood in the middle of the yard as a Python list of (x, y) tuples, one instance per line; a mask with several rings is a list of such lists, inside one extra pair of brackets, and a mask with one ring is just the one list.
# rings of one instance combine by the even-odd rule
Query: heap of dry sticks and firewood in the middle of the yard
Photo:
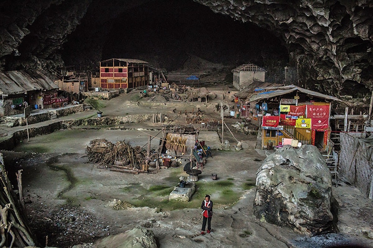
[(89, 163), (97, 163), (98, 168), (111, 171), (138, 174), (147, 172), (145, 151), (140, 146), (132, 147), (125, 141), (113, 144), (106, 139), (91, 140), (85, 149)]

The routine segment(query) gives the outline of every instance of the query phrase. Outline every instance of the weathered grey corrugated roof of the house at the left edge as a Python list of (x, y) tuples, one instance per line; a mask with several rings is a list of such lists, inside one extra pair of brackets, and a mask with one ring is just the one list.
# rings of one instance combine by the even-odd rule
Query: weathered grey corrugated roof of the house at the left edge
[(0, 71), (0, 91), (5, 95), (51, 89), (58, 89), (58, 86), (40, 71)]

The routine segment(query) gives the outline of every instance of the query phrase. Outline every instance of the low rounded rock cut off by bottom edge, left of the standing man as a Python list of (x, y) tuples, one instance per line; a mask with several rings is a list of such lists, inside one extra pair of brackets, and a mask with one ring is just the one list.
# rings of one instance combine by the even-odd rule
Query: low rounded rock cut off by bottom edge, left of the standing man
[(94, 245), (96, 248), (157, 248), (157, 241), (152, 230), (134, 228), (99, 239)]

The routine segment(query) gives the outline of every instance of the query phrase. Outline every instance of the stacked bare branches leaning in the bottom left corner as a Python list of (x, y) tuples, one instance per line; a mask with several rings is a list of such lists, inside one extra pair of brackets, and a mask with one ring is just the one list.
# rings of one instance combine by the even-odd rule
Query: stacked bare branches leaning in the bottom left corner
[[(26, 247), (35, 246), (35, 239), (26, 224), (25, 209), (20, 204), (9, 181), (4, 166), (3, 155), (0, 153), (0, 247)], [(21, 177), (18, 172), (17, 177)], [(21, 180), (18, 180), (18, 188), (22, 191)], [(22, 198), (22, 197), (21, 197)]]

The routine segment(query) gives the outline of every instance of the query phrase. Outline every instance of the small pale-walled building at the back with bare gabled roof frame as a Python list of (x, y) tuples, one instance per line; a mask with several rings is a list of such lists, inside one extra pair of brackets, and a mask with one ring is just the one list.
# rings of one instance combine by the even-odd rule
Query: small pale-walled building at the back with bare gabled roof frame
[(242, 64), (232, 72), (233, 86), (238, 90), (250, 86), (253, 81), (264, 82), (266, 79), (266, 70), (255, 64)]

